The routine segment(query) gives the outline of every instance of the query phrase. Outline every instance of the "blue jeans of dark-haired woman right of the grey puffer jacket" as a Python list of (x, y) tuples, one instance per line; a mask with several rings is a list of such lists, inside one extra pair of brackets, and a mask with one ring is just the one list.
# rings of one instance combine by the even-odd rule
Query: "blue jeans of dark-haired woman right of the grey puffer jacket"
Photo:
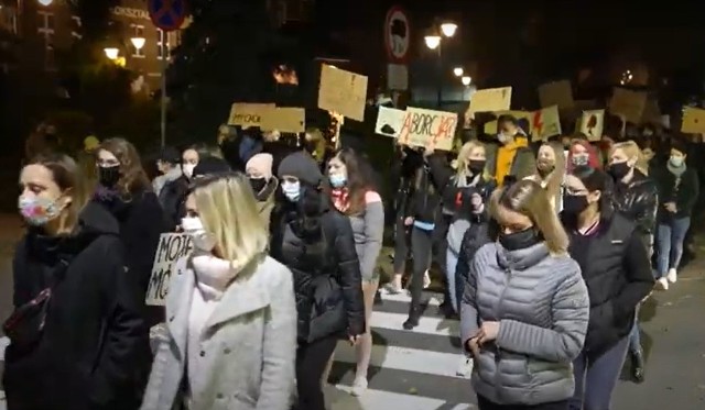
[(589, 359), (583, 352), (573, 361), (575, 394), (570, 410), (609, 410), (628, 345), (629, 337), (625, 337), (597, 358)]

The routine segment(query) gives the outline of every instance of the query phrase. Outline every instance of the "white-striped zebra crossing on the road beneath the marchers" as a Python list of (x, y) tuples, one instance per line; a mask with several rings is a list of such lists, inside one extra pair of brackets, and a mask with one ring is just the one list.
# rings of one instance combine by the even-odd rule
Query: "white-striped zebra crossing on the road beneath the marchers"
[(429, 306), (419, 326), (405, 331), (411, 298), (383, 295), (372, 318), (372, 358), (368, 390), (349, 395), (355, 379), (356, 354), (346, 341), (335, 352), (326, 390), (332, 410), (465, 410), (475, 409), (470, 381), (456, 375), (460, 353), (459, 322), (438, 314), (438, 293), (425, 293)]

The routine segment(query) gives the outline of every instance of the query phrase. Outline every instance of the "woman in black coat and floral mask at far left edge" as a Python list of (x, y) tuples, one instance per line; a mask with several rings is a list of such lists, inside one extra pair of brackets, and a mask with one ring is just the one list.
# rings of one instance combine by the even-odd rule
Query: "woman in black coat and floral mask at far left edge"
[[(13, 261), (15, 313), (3, 385), (9, 409), (138, 409), (149, 372), (144, 293), (126, 275), (119, 223), (87, 202), (83, 175), (59, 154), (21, 173), (19, 209), (30, 226)], [(85, 206), (85, 207), (84, 207)], [(51, 309), (47, 309), (51, 303)], [(145, 380), (142, 380), (145, 381)]]

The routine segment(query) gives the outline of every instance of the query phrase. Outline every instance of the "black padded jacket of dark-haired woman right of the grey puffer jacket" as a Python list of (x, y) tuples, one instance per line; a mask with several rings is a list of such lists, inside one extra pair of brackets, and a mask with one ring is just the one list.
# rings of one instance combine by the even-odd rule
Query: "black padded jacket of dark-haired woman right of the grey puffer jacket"
[(649, 254), (634, 223), (620, 213), (604, 212), (590, 235), (577, 233), (574, 218), (562, 219), (590, 297), (584, 350), (595, 358), (631, 331), (637, 304), (653, 288)]

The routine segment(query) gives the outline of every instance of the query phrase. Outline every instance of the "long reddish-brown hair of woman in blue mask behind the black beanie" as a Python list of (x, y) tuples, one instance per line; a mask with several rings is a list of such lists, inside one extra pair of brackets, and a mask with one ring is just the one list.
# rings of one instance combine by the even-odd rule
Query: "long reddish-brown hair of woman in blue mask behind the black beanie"
[[(370, 190), (376, 190), (372, 166), (365, 157), (349, 147), (339, 149), (334, 157), (345, 164), (348, 174), (349, 207), (344, 213), (348, 215), (360, 213), (366, 206), (365, 195)], [(326, 184), (324, 189), (326, 193), (330, 193), (329, 184)]]

